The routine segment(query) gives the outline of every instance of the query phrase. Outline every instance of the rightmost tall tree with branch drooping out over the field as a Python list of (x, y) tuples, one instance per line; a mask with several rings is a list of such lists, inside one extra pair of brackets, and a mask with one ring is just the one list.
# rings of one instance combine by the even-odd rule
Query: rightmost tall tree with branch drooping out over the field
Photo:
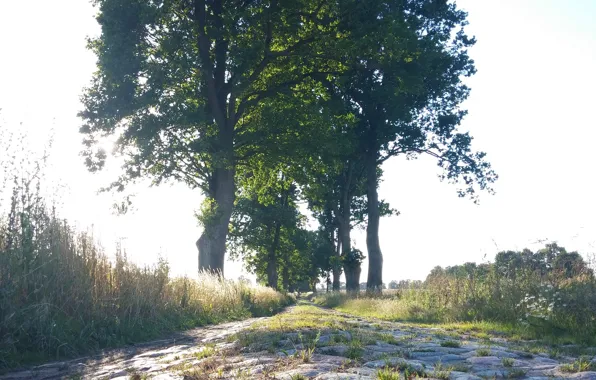
[(353, 31), (350, 67), (335, 92), (357, 118), (368, 199), (368, 289), (382, 286), (378, 167), (387, 159), (427, 154), (444, 170), (441, 179), (463, 183), (460, 196), (491, 191), (497, 178), (472, 137), (458, 131), (469, 94), (463, 77), (474, 74), (463, 30), (466, 13), (447, 1), (349, 2), (343, 22)]

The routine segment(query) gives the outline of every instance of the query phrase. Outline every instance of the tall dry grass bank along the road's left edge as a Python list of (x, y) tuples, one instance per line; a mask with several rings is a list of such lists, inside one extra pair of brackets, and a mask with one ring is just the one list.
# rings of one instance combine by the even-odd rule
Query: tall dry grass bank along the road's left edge
[(11, 179), (0, 189), (8, 189), (0, 207), (0, 369), (271, 314), (291, 301), (208, 274), (171, 278), (167, 262), (140, 267), (120, 248), (111, 261), (48, 206), (39, 165), (3, 166), (0, 176)]

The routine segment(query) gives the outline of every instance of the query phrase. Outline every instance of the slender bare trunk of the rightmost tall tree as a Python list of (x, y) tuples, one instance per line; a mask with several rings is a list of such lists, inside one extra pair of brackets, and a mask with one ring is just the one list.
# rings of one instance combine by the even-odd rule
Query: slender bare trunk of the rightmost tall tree
[(383, 288), (383, 254), (379, 244), (379, 194), (377, 189), (376, 151), (370, 149), (366, 160), (366, 195), (368, 198), (368, 225), (366, 227), (366, 248), (368, 250), (369, 291), (381, 291)]

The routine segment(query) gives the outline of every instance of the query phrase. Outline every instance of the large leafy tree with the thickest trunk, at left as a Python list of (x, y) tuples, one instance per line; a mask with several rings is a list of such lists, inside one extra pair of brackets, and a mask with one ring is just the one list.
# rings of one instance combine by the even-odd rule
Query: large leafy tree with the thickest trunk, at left
[[(318, 0), (95, 0), (98, 70), (82, 97), (85, 159), (117, 136), (124, 173), (202, 190), (199, 269), (223, 274), (239, 166), (277, 149), (276, 128), (313, 121), (308, 99), (341, 70), (337, 3)], [(296, 93), (302, 93), (296, 95)], [(286, 102), (289, 101), (289, 104)], [(299, 106), (297, 106), (299, 104)], [(289, 112), (288, 112), (289, 111)], [(273, 117), (271, 117), (273, 116)], [(288, 123), (280, 123), (286, 118)]]

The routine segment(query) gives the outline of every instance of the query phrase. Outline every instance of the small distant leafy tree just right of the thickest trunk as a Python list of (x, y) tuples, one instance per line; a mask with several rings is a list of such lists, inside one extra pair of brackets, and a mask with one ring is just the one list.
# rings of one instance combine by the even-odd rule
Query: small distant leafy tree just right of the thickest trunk
[(292, 170), (284, 164), (267, 167), (268, 160), (256, 160), (238, 181), (231, 253), (242, 257), (249, 270), (274, 289), (313, 289), (330, 270), (332, 248), (321, 230), (305, 228)]

